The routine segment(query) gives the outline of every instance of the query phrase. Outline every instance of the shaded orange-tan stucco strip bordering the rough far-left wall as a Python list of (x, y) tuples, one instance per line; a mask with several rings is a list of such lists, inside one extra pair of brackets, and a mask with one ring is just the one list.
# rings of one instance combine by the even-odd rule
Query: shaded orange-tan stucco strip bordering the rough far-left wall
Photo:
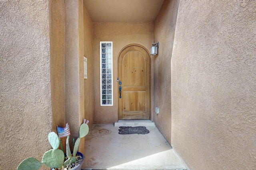
[[(52, 130), (65, 127), (65, 14), (63, 0), (50, 0), (50, 72)], [(66, 143), (62, 140), (63, 145)]]

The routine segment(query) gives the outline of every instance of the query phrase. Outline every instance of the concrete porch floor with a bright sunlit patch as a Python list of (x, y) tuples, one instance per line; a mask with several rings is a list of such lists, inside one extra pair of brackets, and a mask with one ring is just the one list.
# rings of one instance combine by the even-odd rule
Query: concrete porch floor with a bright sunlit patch
[(120, 135), (114, 124), (92, 125), (85, 137), (82, 169), (186, 170), (160, 131), (155, 126), (146, 128), (150, 133), (145, 135)]

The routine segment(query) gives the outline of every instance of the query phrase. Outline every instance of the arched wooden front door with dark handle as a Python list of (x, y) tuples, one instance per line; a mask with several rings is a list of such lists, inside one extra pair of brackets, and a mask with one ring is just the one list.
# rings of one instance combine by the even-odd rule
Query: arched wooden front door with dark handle
[(150, 56), (139, 45), (124, 48), (118, 57), (119, 120), (150, 119)]

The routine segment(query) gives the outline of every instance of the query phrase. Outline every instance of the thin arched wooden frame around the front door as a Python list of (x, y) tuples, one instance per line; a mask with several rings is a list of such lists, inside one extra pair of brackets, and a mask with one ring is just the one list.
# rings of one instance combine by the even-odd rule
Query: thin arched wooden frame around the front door
[[(150, 69), (149, 69), (149, 76), (150, 76), (150, 81), (149, 81), (149, 83), (150, 83), (150, 90), (149, 90), (149, 92), (150, 92), (150, 106), (149, 106), (149, 108), (150, 108), (150, 110), (149, 110), (149, 120), (151, 120), (152, 119), (152, 113), (151, 113), (151, 95), (152, 95), (152, 92), (151, 92), (151, 57), (150, 57), (150, 53), (149, 53), (149, 51), (144, 47), (144, 46), (142, 46), (142, 45), (140, 45), (140, 44), (129, 44), (129, 45), (126, 45), (125, 47), (123, 47), (122, 49), (121, 49), (121, 51), (118, 53), (118, 58), (117, 58), (117, 77), (119, 78), (119, 73), (118, 73), (118, 69), (119, 69), (119, 65), (118, 65), (118, 61), (119, 61), (119, 57), (120, 57), (120, 55), (121, 55), (121, 53), (122, 53), (122, 51), (124, 51), (124, 49), (126, 49), (127, 47), (130, 47), (130, 46), (138, 46), (138, 47), (140, 47), (140, 48), (142, 48), (142, 49), (144, 49), (145, 51), (146, 51), (146, 53), (148, 54), (148, 56), (149, 56), (149, 64), (150, 64)], [(118, 83), (119, 83), (119, 81), (118, 81)], [(119, 87), (119, 85), (117, 86), (117, 87)], [(120, 120), (119, 119), (119, 89), (118, 88), (116, 88), (116, 90), (117, 90), (117, 95), (116, 95), (116, 98), (118, 98), (118, 100), (117, 100), (117, 118), (118, 118), (118, 120)]]

